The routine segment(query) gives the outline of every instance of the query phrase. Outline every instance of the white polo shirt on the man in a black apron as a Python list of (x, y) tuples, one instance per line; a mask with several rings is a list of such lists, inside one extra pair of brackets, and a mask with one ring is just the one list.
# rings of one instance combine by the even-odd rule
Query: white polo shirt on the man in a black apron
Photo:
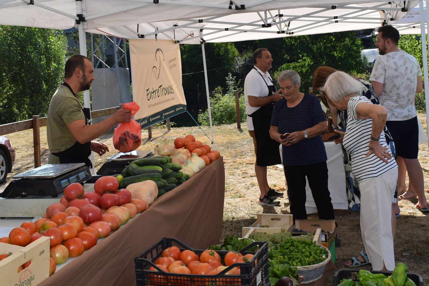
[[(246, 78), (244, 81), (244, 98), (245, 98), (245, 104), (246, 104), (246, 114), (252, 114), (260, 108), (260, 106), (259, 107), (250, 106), (248, 96), (249, 95), (255, 96), (255, 97), (268, 96), (269, 90), (267, 85), (273, 85), (271, 76), (269, 75), (268, 72), (265, 72), (264, 74), (256, 66), (254, 67), (254, 69), (252, 68), (251, 71), (246, 75)], [(249, 115), (246, 118), (246, 123), (247, 123), (248, 130), (254, 130), (252, 117), (250, 117)]]

